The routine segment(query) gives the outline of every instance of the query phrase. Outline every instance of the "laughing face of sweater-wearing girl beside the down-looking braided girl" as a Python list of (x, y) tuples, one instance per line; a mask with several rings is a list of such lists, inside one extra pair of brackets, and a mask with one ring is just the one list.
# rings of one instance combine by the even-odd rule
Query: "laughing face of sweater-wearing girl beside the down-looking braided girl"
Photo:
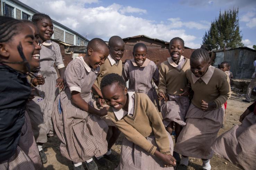
[(180, 40), (174, 40), (172, 41), (172, 44), (170, 45), (169, 53), (172, 57), (173, 61), (176, 61), (180, 59), (180, 56), (184, 53), (184, 47)]

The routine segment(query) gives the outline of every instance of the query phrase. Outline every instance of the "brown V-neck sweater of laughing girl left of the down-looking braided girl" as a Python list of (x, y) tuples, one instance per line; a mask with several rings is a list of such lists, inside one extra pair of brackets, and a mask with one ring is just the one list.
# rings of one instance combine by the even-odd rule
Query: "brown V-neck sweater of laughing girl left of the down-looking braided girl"
[(187, 85), (186, 72), (188, 69), (190, 69), (190, 64), (187, 58), (180, 70), (170, 65), (168, 61), (161, 63), (158, 91), (170, 95), (183, 93), (180, 89), (185, 88)]

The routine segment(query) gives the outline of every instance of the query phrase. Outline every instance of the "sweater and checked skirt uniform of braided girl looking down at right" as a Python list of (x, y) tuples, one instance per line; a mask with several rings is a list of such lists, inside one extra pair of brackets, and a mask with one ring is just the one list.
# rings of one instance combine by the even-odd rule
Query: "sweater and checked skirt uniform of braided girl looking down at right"
[[(223, 123), (223, 103), (231, 94), (230, 85), (227, 75), (213, 66), (208, 67), (202, 77), (196, 77), (187, 70), (187, 79), (194, 96), (186, 115), (186, 125), (180, 132), (174, 151), (187, 157), (211, 159), (211, 146)], [(202, 100), (216, 103), (216, 108), (201, 110)]]

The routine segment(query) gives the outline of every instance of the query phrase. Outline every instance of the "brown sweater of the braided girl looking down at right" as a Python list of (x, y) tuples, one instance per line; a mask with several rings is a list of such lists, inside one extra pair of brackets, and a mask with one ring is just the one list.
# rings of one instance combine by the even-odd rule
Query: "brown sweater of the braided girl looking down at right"
[(207, 84), (199, 80), (193, 83), (192, 74), (190, 70), (187, 71), (188, 85), (191, 86), (194, 91), (191, 102), (197, 108), (201, 108), (202, 100), (206, 103), (215, 102), (217, 105), (216, 108), (221, 107), (221, 105), (228, 100), (231, 95), (231, 88), (227, 80), (228, 76), (222, 70), (214, 68), (212, 77)]

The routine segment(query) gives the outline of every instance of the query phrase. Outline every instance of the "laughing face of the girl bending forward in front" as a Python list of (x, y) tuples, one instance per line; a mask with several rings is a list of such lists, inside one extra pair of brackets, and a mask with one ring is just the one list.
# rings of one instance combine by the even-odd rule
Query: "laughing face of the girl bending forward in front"
[(127, 105), (127, 87), (123, 90), (118, 83), (113, 83), (101, 89), (106, 104), (120, 110)]

